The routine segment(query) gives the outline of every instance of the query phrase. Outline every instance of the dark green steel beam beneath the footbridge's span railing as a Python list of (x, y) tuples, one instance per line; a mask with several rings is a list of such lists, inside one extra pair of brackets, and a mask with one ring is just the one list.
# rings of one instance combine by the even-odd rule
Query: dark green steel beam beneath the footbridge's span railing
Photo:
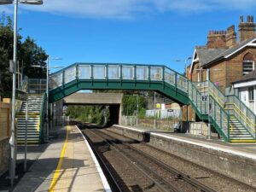
[(175, 102), (189, 104), (188, 94), (162, 81), (134, 80), (73, 80), (49, 91), (49, 102), (56, 102), (79, 90), (156, 90)]

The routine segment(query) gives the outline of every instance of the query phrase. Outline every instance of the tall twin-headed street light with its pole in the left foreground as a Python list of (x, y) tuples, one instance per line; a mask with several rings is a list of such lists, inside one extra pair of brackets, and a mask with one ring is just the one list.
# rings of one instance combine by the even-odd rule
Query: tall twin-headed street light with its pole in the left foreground
[[(16, 65), (17, 65), (17, 16), (18, 16), (18, 0), (0, 0), (0, 4), (11, 4), (15, 3), (15, 15), (14, 15), (14, 69), (13, 69), (13, 93), (12, 93), (12, 122), (11, 122), (11, 161), (10, 161), (10, 183), (14, 186), (15, 178), (15, 148), (16, 148), (16, 138), (15, 138), (15, 91), (16, 91)], [(43, 4), (43, 0), (20, 0), (20, 3), (25, 4)]]

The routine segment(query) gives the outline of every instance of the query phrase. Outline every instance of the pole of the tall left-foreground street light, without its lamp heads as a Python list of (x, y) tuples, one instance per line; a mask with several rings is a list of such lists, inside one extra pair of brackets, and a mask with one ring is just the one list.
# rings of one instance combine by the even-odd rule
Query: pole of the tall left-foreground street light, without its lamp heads
[(15, 91), (16, 91), (16, 64), (17, 64), (17, 14), (18, 0), (15, 0), (15, 19), (14, 19), (14, 72), (13, 72), (13, 96), (12, 96), (12, 123), (11, 123), (11, 161), (10, 161), (10, 183), (14, 186), (15, 166), (16, 166), (16, 137), (15, 137)]

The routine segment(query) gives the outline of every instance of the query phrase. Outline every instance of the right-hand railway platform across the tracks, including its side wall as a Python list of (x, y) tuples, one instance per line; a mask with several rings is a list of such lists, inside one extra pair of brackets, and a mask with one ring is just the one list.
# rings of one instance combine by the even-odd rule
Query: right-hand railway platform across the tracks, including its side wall
[(256, 188), (256, 143), (224, 143), (127, 125), (109, 129)]

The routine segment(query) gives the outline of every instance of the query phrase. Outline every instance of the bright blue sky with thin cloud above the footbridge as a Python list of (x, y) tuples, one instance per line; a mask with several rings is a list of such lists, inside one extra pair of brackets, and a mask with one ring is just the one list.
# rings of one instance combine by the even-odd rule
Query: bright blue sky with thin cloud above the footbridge
[[(166, 64), (182, 73), (209, 30), (225, 30), (253, 15), (255, 0), (44, 0), (20, 5), (23, 37), (36, 39), (52, 66), (74, 62)], [(0, 6), (13, 16), (13, 5)], [(256, 15), (255, 15), (256, 16)]]

